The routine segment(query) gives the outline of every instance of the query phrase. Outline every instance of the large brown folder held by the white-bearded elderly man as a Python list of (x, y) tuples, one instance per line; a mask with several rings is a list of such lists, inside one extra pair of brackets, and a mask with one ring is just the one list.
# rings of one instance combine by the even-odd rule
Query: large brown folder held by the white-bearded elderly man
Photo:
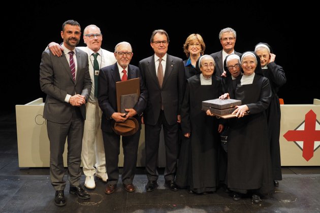
[[(123, 99), (123, 97), (126, 97), (125, 95), (138, 94), (137, 100), (139, 100), (140, 78), (116, 82), (116, 91), (117, 91), (117, 110), (118, 110), (118, 113), (120, 113), (121, 112), (121, 95)], [(129, 108), (126, 108), (126, 109), (129, 109)], [(122, 111), (124, 111), (124, 109)]]

